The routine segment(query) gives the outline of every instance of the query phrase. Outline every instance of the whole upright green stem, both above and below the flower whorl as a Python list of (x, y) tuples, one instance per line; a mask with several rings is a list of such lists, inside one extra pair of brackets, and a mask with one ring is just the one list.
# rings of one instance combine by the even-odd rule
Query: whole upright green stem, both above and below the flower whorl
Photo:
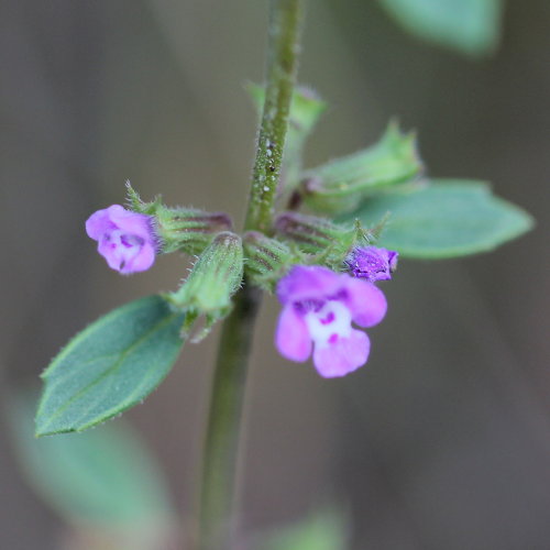
[[(271, 0), (265, 103), (245, 230), (270, 232), (290, 99), (296, 81), (304, 0)], [(197, 548), (231, 548), (232, 506), (246, 367), (260, 292), (246, 285), (223, 323), (202, 454)]]

